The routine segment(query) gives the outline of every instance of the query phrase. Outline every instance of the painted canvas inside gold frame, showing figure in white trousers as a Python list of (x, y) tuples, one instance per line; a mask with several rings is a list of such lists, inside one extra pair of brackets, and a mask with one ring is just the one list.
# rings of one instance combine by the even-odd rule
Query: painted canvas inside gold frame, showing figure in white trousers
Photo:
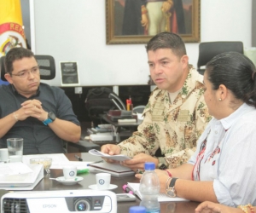
[[(191, 33), (192, 0), (115, 0), (116, 35)], [(118, 11), (119, 10), (119, 11)], [(117, 17), (119, 16), (119, 17)], [(121, 16), (121, 18), (120, 18)]]

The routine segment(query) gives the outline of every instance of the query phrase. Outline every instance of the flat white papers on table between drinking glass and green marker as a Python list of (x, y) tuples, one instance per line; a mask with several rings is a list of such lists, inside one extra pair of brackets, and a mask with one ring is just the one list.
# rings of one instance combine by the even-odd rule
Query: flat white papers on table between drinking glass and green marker
[(34, 155), (23, 155), (22, 162), (25, 164), (30, 164), (31, 158), (52, 158), (52, 163), (49, 169), (59, 169), (62, 170), (63, 166), (66, 165), (76, 165), (78, 170), (84, 170), (87, 164), (91, 162), (85, 161), (69, 161), (64, 154), (34, 154)]

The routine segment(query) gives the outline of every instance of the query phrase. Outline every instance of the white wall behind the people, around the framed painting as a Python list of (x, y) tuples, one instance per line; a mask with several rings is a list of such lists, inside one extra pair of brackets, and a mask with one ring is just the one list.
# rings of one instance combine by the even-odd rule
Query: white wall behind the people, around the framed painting
[[(56, 60), (57, 76), (50, 84), (61, 85), (60, 61), (78, 61), (82, 86), (147, 84), (145, 44), (106, 44), (105, 1), (31, 2), (34, 4), (31, 19), (35, 27), (32, 29), (35, 47), (32, 49), (36, 54), (53, 55)], [(252, 0), (201, 0), (201, 42), (242, 41), (244, 47), (250, 47), (251, 8)], [(76, 15), (79, 15), (79, 21), (73, 20)], [(194, 66), (198, 45), (186, 43), (189, 61)]]

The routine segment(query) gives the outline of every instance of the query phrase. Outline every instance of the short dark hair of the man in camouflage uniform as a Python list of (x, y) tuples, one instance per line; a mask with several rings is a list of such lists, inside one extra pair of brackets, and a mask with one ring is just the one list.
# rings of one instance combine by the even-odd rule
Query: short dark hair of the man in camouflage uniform
[(147, 52), (156, 49), (172, 49), (172, 52), (179, 57), (187, 55), (183, 39), (172, 32), (160, 32), (155, 35), (147, 43), (146, 49)]

